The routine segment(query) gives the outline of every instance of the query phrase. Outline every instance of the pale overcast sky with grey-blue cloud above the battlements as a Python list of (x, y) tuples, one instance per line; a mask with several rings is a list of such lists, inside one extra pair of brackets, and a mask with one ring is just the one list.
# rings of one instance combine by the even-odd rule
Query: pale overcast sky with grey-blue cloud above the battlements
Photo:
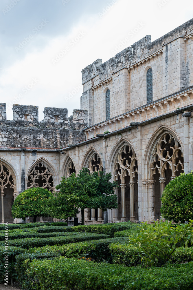
[[(0, 0), (0, 102), (80, 108), (81, 70), (193, 17), (192, 0)], [(138, 27), (138, 28), (137, 28)], [(132, 32), (133, 30), (133, 32)], [(124, 39), (128, 37), (129, 40)], [(117, 52), (116, 52), (117, 50)], [(75, 94), (76, 91), (76, 94)]]

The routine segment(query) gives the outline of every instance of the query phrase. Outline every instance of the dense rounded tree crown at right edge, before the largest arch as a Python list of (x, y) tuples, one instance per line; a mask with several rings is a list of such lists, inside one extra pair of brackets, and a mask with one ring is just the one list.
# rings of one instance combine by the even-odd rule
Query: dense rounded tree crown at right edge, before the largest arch
[(161, 197), (161, 214), (167, 220), (184, 222), (193, 219), (193, 174), (175, 177), (165, 187)]

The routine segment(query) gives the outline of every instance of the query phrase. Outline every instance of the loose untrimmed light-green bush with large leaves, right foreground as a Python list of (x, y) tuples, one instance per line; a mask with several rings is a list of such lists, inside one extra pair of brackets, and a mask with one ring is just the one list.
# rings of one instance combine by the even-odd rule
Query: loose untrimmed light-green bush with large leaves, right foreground
[(155, 222), (153, 224), (142, 223), (140, 233), (130, 236), (129, 242), (135, 244), (140, 251), (144, 251), (145, 265), (161, 267), (166, 264), (175, 249), (180, 246), (188, 247), (193, 243), (193, 220), (188, 224), (172, 227), (172, 222)]

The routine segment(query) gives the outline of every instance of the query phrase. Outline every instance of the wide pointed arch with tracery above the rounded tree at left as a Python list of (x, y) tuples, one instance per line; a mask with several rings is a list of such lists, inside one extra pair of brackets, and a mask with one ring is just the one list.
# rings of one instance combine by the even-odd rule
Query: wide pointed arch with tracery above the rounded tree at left
[[(39, 166), (40, 168), (35, 168), (36, 166)], [(42, 176), (42, 180), (45, 178), (43, 182), (43, 188), (47, 188), (51, 191), (55, 191), (56, 185), (60, 182), (58, 173), (56, 172), (55, 168), (44, 157), (35, 160), (28, 169), (25, 178), (26, 189), (37, 186), (37, 182), (35, 182), (34, 176)]]

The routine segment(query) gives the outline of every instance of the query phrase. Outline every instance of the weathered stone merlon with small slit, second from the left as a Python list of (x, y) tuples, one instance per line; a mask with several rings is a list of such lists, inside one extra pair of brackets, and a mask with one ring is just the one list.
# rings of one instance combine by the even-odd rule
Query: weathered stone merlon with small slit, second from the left
[(38, 122), (38, 107), (37, 106), (25, 106), (25, 105), (13, 105), (13, 120), (14, 121), (36, 121)]

